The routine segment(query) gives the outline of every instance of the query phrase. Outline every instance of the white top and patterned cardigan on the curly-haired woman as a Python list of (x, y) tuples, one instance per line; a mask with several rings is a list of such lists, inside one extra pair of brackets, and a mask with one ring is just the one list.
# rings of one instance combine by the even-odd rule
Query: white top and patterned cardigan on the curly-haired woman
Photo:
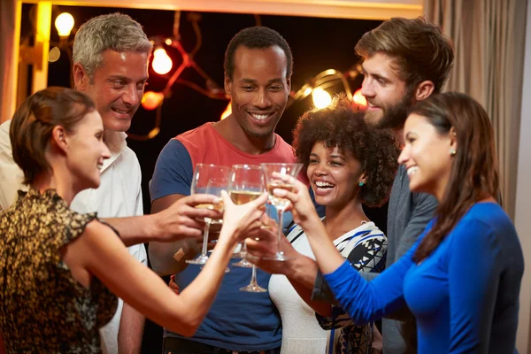
[[(301, 227), (291, 227), (287, 237), (298, 252), (315, 259)], [(359, 272), (381, 272), (385, 266), (387, 238), (373, 222), (363, 222), (359, 227), (335, 239), (334, 244)], [(333, 307), (333, 315), (330, 318), (315, 314), (298, 296), (284, 275), (272, 276), (269, 292), (273, 303), (281, 312), (282, 353), (371, 352), (373, 324), (354, 326), (349, 315), (336, 306)]]

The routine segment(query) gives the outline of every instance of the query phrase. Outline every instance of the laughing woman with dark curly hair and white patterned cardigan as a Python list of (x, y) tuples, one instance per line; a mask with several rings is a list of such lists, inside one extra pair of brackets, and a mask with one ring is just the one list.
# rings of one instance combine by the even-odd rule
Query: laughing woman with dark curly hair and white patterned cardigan
[[(366, 217), (362, 204), (380, 206), (389, 197), (398, 165), (394, 138), (368, 127), (363, 112), (346, 96), (336, 96), (325, 109), (305, 112), (294, 138), (315, 201), (326, 208), (321, 221), (329, 240), (358, 272), (381, 272), (387, 239)], [(250, 242), (250, 250), (264, 243)], [(356, 327), (339, 308), (310, 300), (317, 266), (302, 227), (291, 227), (285, 243), (282, 250), (292, 260), (281, 266), (258, 262), (266, 271), (280, 273), (272, 276), (269, 293), (281, 313), (281, 353), (370, 353), (372, 323)], [(304, 281), (301, 273), (306, 273)], [(305, 301), (324, 316), (316, 319)]]

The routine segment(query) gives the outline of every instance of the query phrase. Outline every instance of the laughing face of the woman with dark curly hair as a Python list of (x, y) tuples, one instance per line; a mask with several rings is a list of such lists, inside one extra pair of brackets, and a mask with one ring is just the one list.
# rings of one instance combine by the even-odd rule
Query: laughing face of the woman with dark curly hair
[(358, 159), (337, 147), (327, 148), (325, 142), (316, 142), (307, 169), (316, 203), (327, 206), (350, 203), (358, 196), (358, 183), (366, 181), (360, 170)]

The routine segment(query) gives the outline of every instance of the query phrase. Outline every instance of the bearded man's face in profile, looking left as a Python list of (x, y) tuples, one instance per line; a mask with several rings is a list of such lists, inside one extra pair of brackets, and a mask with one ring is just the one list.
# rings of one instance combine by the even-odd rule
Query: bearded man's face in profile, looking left
[(393, 58), (376, 53), (366, 58), (363, 65), (365, 75), (361, 94), (366, 97), (366, 122), (373, 127), (401, 128), (408, 108), (411, 106), (412, 92), (397, 71)]

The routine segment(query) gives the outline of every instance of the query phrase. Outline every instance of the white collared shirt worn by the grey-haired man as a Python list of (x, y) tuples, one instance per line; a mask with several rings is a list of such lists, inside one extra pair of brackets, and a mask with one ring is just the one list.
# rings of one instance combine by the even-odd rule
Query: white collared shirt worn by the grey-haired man
[[(7, 209), (17, 197), (17, 190), (27, 190), (22, 184), (24, 173), (12, 158), (9, 128), (11, 120), (0, 126), (0, 210)], [(100, 218), (121, 218), (143, 214), (142, 173), (135, 152), (127, 147), (125, 133), (106, 133), (105, 142), (111, 158), (104, 160), (98, 189), (86, 189), (73, 198), (75, 212), (97, 212)], [(128, 247), (129, 253), (147, 266), (148, 259), (143, 244)], [(123, 301), (111, 322), (102, 327), (104, 353), (118, 353), (118, 329)]]

